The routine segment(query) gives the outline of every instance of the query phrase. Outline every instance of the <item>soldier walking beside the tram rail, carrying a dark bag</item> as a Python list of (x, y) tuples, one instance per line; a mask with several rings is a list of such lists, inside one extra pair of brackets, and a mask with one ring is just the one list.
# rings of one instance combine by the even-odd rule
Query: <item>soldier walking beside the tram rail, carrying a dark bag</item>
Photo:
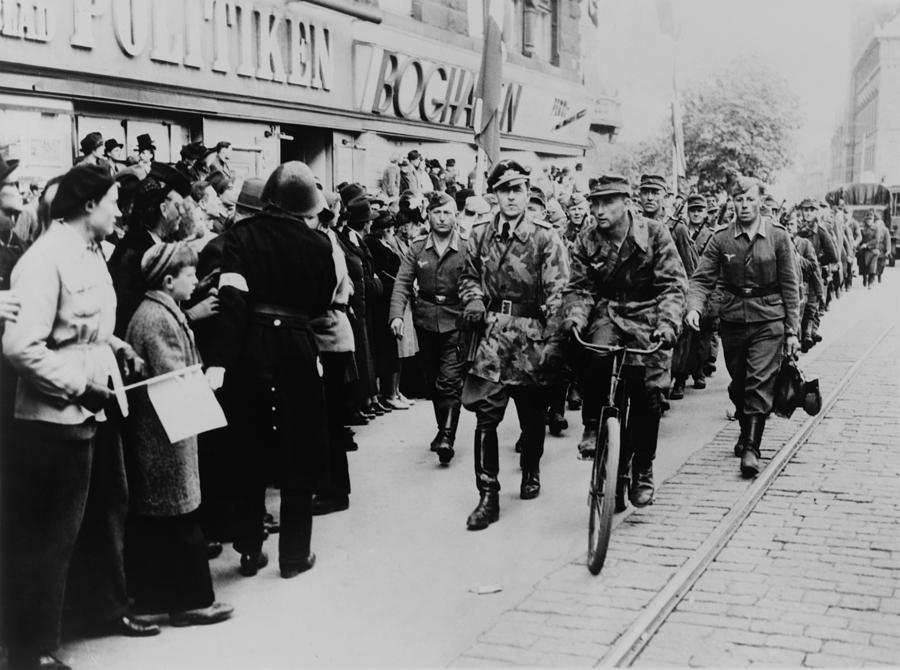
[(728, 394), (741, 434), (735, 454), (741, 473), (759, 472), (759, 445), (772, 411), (775, 377), (782, 355), (800, 348), (799, 280), (791, 236), (760, 214), (760, 186), (739, 178), (732, 190), (736, 220), (716, 229), (690, 281), (687, 324), (700, 328), (700, 315), (716, 283), (725, 290), (719, 332), (731, 375)]

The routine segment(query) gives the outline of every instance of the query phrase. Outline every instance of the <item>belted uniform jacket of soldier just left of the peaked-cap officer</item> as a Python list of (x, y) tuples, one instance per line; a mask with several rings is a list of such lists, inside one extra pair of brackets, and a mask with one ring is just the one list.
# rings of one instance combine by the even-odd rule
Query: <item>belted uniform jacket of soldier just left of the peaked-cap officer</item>
[[(468, 241), (459, 229), (454, 230), (443, 256), (438, 256), (430, 234), (410, 243), (391, 293), (390, 321), (402, 319), (406, 304), (412, 300), (416, 328), (433, 333), (456, 330), (462, 310), (459, 278), (466, 266)], [(419, 286), (415, 298), (413, 283)]]

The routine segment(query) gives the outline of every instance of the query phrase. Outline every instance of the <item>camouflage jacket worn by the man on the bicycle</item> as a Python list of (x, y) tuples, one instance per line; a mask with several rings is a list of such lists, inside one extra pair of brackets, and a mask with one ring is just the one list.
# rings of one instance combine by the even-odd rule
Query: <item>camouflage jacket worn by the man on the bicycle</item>
[(628, 232), (619, 249), (596, 224), (578, 236), (563, 316), (579, 328), (609, 318), (649, 347), (657, 328), (680, 330), (687, 277), (665, 224), (634, 212), (628, 216)]

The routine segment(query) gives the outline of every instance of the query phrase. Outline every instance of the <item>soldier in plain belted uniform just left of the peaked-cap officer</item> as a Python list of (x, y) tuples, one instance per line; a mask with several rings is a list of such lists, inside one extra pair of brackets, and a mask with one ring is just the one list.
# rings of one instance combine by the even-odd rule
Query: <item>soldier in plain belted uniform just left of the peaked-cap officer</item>
[[(457, 321), (459, 277), (466, 264), (466, 243), (456, 225), (456, 203), (435, 191), (428, 199), (431, 232), (412, 241), (403, 258), (391, 294), (391, 330), (403, 337), (403, 311), (413, 301), (413, 323), (419, 340), (419, 360), (434, 403), (438, 432), (431, 441), (442, 464), (453, 458), (456, 426), (459, 424), (463, 360), (459, 356)], [(413, 298), (413, 282), (419, 292)]]

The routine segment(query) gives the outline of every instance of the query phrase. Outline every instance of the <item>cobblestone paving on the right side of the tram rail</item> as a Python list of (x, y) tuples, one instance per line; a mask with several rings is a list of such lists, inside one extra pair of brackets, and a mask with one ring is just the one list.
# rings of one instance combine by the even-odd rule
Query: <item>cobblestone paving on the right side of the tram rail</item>
[(900, 664), (900, 328), (638, 665)]

